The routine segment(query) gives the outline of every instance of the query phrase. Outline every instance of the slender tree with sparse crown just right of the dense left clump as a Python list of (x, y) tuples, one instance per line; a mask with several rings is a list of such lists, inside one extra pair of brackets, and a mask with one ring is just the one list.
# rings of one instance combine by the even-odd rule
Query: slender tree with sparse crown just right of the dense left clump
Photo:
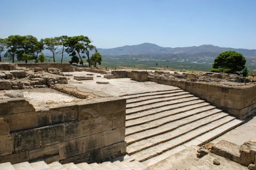
[(60, 46), (60, 38), (45, 38), (43, 42), (45, 45), (45, 49), (48, 49), (52, 52), (53, 62), (55, 63), (55, 54), (59, 53), (58, 47)]

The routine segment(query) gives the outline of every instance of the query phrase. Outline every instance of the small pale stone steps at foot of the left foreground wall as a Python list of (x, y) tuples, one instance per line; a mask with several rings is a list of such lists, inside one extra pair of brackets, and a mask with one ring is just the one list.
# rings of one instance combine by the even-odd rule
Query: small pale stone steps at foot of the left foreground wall
[(35, 162), (35, 163), (2, 163), (0, 164), (1, 170), (142, 170), (146, 169), (147, 166), (134, 160), (129, 162), (128, 160), (124, 160), (120, 162), (116, 160), (115, 162), (104, 162), (102, 164), (87, 164), (87, 163), (68, 163), (68, 164), (60, 164), (59, 162), (53, 162), (51, 164), (46, 164), (44, 161)]

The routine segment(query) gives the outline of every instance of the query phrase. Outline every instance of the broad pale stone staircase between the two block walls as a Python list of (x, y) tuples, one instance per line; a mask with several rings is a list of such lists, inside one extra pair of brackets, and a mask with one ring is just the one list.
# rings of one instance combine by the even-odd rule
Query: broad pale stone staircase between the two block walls
[(178, 87), (122, 97), (127, 99), (126, 152), (147, 166), (243, 123)]

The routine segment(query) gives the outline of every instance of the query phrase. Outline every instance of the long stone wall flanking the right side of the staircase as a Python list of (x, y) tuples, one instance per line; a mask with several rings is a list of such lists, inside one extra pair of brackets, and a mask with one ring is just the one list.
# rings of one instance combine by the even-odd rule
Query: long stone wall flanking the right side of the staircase
[(191, 92), (238, 118), (245, 119), (256, 112), (256, 86), (225, 87), (210, 83), (149, 77), (149, 81), (176, 86)]

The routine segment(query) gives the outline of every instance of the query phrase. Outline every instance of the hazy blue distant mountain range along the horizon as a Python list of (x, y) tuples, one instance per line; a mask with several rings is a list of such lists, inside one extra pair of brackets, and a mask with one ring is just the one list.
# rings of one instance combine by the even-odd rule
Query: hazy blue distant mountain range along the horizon
[(102, 55), (209, 55), (217, 56), (219, 53), (227, 50), (234, 50), (242, 53), (244, 56), (256, 56), (256, 49), (225, 48), (213, 45), (202, 45), (193, 47), (161, 47), (156, 44), (143, 43), (139, 45), (123, 46), (116, 48), (98, 48)]

